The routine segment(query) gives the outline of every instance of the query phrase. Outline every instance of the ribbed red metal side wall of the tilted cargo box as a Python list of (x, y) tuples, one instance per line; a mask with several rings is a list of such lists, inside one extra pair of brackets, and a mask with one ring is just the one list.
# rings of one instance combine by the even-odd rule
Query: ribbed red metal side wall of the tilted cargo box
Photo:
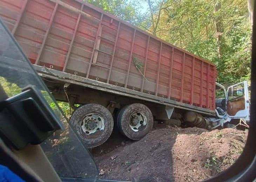
[(215, 109), (214, 64), (88, 3), (1, 0), (0, 15), (33, 64)]

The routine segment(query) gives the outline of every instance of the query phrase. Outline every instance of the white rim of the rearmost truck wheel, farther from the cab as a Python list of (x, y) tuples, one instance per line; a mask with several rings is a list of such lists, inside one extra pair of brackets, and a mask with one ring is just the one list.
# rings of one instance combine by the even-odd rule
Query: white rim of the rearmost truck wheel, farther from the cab
[(81, 119), (80, 132), (87, 138), (96, 138), (105, 129), (105, 120), (98, 113), (89, 113)]

